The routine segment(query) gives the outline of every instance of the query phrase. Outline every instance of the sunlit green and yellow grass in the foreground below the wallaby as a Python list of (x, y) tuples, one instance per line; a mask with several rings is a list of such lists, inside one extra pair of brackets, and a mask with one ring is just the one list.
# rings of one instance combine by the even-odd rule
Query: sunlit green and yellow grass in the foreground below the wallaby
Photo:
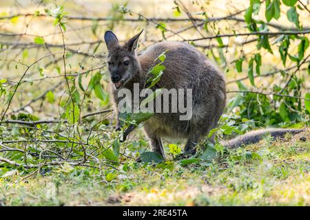
[(0, 178), (0, 205), (309, 206), (309, 140), (308, 130), (189, 165), (127, 159), (112, 181), (92, 168), (63, 167), (26, 179), (14, 173)]

